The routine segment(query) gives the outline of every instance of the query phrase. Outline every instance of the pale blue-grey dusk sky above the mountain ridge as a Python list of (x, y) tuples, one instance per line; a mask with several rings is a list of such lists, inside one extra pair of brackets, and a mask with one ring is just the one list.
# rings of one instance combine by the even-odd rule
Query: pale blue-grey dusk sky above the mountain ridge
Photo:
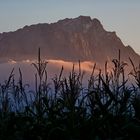
[(140, 54), (140, 0), (0, 0), (0, 33), (80, 15), (98, 18)]

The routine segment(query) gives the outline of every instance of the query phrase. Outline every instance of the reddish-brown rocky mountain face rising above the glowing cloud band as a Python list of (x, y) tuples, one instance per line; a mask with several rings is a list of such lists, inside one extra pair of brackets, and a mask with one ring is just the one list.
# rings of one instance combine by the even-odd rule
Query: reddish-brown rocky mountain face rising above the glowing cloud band
[(104, 63), (116, 58), (120, 50), (123, 60), (127, 61), (128, 57), (134, 62), (140, 60), (140, 56), (130, 46), (124, 46), (115, 32), (106, 31), (98, 19), (87, 16), (25, 26), (0, 34), (1, 60), (36, 58), (39, 47), (47, 59)]

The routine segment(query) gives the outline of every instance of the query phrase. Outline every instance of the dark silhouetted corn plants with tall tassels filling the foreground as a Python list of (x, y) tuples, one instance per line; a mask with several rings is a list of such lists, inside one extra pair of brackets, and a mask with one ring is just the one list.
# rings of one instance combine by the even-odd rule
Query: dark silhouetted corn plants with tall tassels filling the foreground
[(126, 63), (112, 61), (112, 72), (95, 67), (82, 85), (83, 73), (74, 67), (69, 77), (59, 75), (47, 82), (47, 62), (33, 64), (35, 90), (15, 82), (13, 71), (0, 84), (0, 140), (135, 140), (140, 137), (140, 66), (130, 59), (134, 84), (125, 79)]

